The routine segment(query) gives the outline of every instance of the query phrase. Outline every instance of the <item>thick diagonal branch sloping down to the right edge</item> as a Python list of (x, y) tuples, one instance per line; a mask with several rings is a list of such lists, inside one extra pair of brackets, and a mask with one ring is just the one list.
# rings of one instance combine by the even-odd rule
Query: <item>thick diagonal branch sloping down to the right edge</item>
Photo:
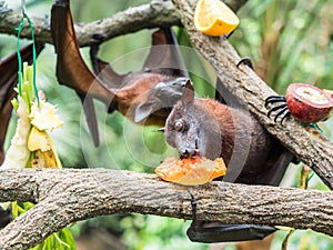
[(299, 159), (309, 164), (333, 189), (333, 144), (317, 130), (304, 128), (294, 120), (281, 126), (266, 116), (264, 100), (276, 94), (246, 66), (236, 68), (240, 57), (229, 41), (208, 37), (193, 27), (194, 0), (173, 0), (182, 23), (201, 54), (213, 66), (224, 87), (243, 102), (260, 122)]

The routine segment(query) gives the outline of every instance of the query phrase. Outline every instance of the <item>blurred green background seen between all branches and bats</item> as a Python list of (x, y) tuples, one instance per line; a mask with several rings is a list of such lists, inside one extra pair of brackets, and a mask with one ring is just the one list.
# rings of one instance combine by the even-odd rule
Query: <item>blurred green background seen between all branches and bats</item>
[[(7, 1), (9, 7), (19, 10), (20, 1)], [(129, 7), (149, 1), (140, 0), (72, 0), (71, 8), (75, 22), (89, 22), (111, 17)], [(50, 14), (52, 1), (27, 1), (30, 17)], [(255, 71), (279, 93), (284, 94), (292, 82), (306, 82), (320, 88), (333, 89), (333, 1), (324, 0), (249, 0), (238, 12), (241, 24), (231, 37), (231, 43), (241, 57), (250, 57)], [(175, 29), (180, 43), (188, 46), (183, 32)], [(100, 57), (111, 62), (118, 72), (141, 68), (142, 53), (151, 42), (151, 30), (121, 36), (102, 44)], [(0, 31), (1, 33), (1, 31)], [(16, 51), (16, 37), (0, 34), (0, 58)], [(29, 41), (22, 41), (28, 43)], [(184, 51), (186, 51), (184, 49)], [(81, 52), (90, 64), (88, 49)], [(185, 54), (188, 54), (185, 52)], [(208, 82), (214, 82), (214, 72), (199, 58), (186, 58), (185, 63), (193, 73), (192, 80), (200, 96), (212, 94)], [(128, 122), (119, 113), (105, 114), (103, 104), (95, 102), (101, 110), (99, 126), (102, 143), (94, 148), (88, 132), (81, 103), (73, 90), (59, 86), (56, 80), (56, 54), (53, 47), (47, 44), (38, 58), (38, 84), (50, 102), (58, 106), (64, 120), (61, 129), (54, 130), (54, 139), (64, 167), (69, 168), (112, 168), (138, 172), (153, 172), (154, 167), (167, 156), (175, 151), (167, 146), (162, 133), (155, 128), (142, 128)], [(206, 79), (203, 81), (202, 79)], [(12, 136), (16, 118), (10, 124), (7, 144)], [(324, 133), (333, 138), (333, 119), (321, 123)], [(143, 147), (142, 147), (143, 146)], [(282, 186), (297, 187), (300, 166), (287, 170)], [(326, 189), (314, 177), (311, 189)], [(90, 242), (104, 246), (104, 249), (214, 249), (218, 246), (193, 243), (185, 236), (189, 222), (182, 220), (141, 214), (114, 214), (78, 222), (71, 227), (78, 238), (78, 249), (89, 249)], [(275, 233), (272, 248), (281, 249), (286, 231)], [(102, 249), (102, 248), (101, 248)], [(218, 248), (216, 248), (218, 249)], [(222, 249), (219, 248), (219, 249)], [(224, 249), (234, 249), (233, 244)], [(289, 250), (331, 250), (333, 240), (316, 232), (296, 231), (289, 244)]]

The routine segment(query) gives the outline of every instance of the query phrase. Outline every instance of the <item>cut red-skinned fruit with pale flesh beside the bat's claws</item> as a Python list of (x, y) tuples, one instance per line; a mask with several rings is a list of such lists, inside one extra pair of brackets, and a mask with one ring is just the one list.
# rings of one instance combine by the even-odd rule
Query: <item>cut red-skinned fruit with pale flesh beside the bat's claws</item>
[(292, 83), (286, 90), (286, 104), (297, 121), (315, 123), (326, 120), (333, 108), (332, 91), (305, 83)]

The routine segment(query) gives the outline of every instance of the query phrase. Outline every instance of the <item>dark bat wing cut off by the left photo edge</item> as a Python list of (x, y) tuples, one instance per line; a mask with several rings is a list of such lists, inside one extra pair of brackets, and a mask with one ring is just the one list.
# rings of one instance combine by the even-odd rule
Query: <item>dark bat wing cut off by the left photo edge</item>
[[(44, 48), (43, 43), (36, 43), (37, 56)], [(20, 50), (22, 61), (32, 63), (32, 43)], [(18, 53), (10, 54), (0, 61), (0, 164), (4, 160), (3, 143), (8, 123), (11, 117), (11, 100), (17, 96), (13, 88), (18, 83)]]

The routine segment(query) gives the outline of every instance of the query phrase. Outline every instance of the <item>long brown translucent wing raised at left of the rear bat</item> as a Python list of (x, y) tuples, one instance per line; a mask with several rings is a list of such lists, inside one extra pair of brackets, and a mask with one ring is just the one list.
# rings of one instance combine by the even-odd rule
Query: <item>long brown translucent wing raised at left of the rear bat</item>
[(80, 54), (68, 0), (54, 1), (52, 6), (51, 34), (58, 54), (58, 81), (74, 89), (81, 101), (85, 102), (85, 119), (93, 142), (98, 146), (99, 132), (92, 98), (103, 101), (109, 107), (114, 94), (89, 70)]

